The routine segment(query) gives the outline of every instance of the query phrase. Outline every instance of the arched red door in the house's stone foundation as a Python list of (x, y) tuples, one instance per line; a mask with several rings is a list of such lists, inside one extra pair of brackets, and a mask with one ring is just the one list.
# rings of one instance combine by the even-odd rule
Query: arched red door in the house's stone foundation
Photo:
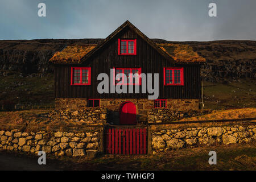
[(133, 102), (123, 102), (120, 106), (120, 124), (136, 125), (136, 106)]

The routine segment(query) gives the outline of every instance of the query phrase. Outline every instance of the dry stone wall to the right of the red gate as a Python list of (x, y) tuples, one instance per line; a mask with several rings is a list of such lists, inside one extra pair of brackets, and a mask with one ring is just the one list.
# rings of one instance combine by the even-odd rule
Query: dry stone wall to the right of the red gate
[(183, 130), (158, 129), (152, 132), (152, 152), (199, 145), (249, 143), (256, 141), (256, 125), (197, 127)]

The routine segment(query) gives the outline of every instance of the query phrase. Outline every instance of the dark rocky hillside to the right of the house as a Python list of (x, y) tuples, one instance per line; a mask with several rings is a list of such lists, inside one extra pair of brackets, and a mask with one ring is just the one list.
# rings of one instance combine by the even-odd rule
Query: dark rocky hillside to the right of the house
[(210, 42), (168, 42), (154, 39), (159, 43), (188, 44), (207, 62), (201, 76), (205, 81), (236, 81), (238, 78), (256, 78), (256, 41), (218, 40)]

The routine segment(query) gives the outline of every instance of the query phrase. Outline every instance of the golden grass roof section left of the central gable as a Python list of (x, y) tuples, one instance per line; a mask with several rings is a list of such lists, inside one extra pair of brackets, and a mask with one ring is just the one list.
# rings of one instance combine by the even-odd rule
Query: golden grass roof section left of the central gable
[(80, 63), (81, 58), (92, 51), (96, 44), (67, 46), (62, 51), (57, 51), (49, 60), (52, 63)]

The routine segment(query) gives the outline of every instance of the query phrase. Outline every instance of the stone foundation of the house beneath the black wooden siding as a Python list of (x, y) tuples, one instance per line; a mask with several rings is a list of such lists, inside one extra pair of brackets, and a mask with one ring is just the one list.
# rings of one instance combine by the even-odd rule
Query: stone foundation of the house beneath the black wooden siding
[[(154, 108), (154, 100), (144, 98), (102, 98), (100, 106), (108, 110), (108, 121), (119, 123), (119, 109), (123, 102), (133, 102), (137, 109), (137, 121), (147, 122), (147, 114)], [(86, 98), (56, 98), (55, 109), (75, 110), (86, 108)], [(167, 99), (167, 109), (198, 110), (199, 99)]]

